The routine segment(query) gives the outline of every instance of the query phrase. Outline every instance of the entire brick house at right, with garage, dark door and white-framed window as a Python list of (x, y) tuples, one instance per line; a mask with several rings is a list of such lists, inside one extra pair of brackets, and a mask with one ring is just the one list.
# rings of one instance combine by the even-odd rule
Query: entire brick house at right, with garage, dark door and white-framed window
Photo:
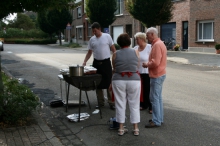
[(215, 52), (220, 43), (219, 0), (173, 0), (173, 19), (160, 26), (160, 37), (193, 52)]

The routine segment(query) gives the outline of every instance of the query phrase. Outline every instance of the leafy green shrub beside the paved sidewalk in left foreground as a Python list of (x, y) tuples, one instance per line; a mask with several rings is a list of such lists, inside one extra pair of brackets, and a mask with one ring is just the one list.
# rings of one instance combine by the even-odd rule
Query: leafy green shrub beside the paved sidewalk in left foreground
[(38, 97), (16, 79), (2, 73), (4, 92), (0, 95), (0, 122), (6, 125), (22, 125), (40, 104)]

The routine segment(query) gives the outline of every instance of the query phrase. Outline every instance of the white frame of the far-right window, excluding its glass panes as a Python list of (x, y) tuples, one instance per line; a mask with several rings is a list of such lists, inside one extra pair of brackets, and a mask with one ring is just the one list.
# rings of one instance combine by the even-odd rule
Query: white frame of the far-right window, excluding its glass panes
[[(209, 39), (203, 39), (203, 26), (205, 23), (211, 23), (212, 24), (212, 31), (211, 31), (211, 38)], [(200, 35), (200, 24), (202, 24), (202, 39), (199, 38)], [(201, 21), (197, 21), (197, 41), (198, 42), (214, 42), (214, 20), (201, 20)]]

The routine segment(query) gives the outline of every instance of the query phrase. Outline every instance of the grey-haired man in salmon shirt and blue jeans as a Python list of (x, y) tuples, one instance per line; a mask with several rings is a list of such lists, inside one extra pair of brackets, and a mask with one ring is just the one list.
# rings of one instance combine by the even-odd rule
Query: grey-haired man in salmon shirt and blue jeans
[(158, 38), (158, 30), (154, 27), (147, 29), (147, 39), (151, 42), (152, 50), (149, 61), (143, 63), (148, 68), (150, 76), (150, 101), (152, 104), (152, 119), (145, 128), (159, 127), (163, 123), (162, 87), (166, 78), (167, 49)]

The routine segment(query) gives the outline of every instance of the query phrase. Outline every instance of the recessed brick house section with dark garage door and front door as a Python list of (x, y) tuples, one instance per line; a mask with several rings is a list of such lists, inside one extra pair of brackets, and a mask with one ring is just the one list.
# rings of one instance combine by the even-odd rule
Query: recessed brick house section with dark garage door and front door
[(159, 27), (160, 38), (167, 43), (168, 49), (172, 49), (175, 44), (187, 49), (190, 0), (173, 0), (173, 2), (173, 18)]

